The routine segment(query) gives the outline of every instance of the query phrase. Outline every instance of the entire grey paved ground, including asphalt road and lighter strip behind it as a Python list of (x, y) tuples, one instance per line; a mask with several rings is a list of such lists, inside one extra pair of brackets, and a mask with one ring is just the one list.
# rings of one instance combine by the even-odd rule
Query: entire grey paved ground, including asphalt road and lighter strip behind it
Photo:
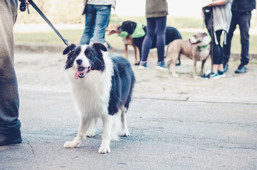
[[(63, 147), (79, 123), (64, 62), (61, 53), (15, 52), (23, 141), (0, 147), (0, 169), (257, 168), (256, 64), (233, 75), (238, 61), (231, 62), (230, 76), (218, 81), (193, 80), (192, 61), (185, 58), (177, 79), (154, 70), (154, 58), (148, 70), (132, 66), (131, 136), (111, 141), (111, 153), (98, 154), (101, 121), (80, 147)], [(241, 85), (246, 88), (239, 91)]]

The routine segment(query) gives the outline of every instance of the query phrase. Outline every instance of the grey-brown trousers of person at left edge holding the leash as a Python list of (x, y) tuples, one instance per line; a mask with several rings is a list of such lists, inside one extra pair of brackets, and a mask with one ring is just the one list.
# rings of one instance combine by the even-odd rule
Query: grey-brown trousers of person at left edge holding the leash
[(14, 71), (13, 26), (17, 0), (0, 0), (0, 134), (20, 131), (19, 94)]

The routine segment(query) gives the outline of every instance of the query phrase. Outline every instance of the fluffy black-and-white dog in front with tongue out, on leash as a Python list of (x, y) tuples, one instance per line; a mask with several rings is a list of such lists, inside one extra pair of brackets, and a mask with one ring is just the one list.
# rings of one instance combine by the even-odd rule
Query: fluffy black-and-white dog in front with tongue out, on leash
[[(127, 59), (107, 53), (101, 43), (68, 46), (65, 73), (71, 82), (75, 107), (80, 115), (78, 134), (64, 147), (78, 147), (86, 136), (93, 136), (98, 118), (103, 120), (99, 153), (110, 152), (110, 140), (119, 134), (129, 136), (126, 112), (131, 101), (135, 76)], [(121, 118), (118, 111), (121, 110)], [(122, 124), (121, 124), (122, 123)]]

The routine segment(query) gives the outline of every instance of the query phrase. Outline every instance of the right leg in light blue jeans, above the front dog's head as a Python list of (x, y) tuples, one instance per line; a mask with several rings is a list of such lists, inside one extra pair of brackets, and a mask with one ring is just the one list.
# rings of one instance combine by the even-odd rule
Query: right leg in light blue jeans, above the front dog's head
[(109, 5), (96, 5), (96, 23), (93, 42), (104, 42), (105, 29), (109, 22), (111, 8)]

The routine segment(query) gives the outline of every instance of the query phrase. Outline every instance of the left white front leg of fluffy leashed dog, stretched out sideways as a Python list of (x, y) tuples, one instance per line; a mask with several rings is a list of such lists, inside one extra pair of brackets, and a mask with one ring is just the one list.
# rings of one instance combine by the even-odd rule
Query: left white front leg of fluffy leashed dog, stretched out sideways
[(79, 147), (81, 141), (84, 139), (85, 137), (85, 133), (88, 129), (89, 126), (89, 120), (87, 118), (84, 118), (81, 116), (80, 118), (80, 124), (79, 124), (79, 128), (78, 128), (78, 134), (76, 136), (76, 138), (73, 141), (67, 141), (64, 144), (64, 147)]

